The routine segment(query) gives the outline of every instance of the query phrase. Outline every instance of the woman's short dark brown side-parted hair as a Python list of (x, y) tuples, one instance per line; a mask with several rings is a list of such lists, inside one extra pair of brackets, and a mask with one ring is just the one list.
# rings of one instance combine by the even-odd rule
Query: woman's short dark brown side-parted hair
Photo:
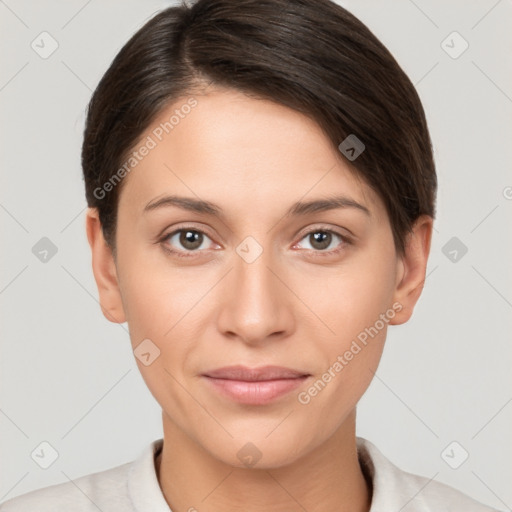
[[(413, 84), (377, 37), (330, 0), (198, 0), (167, 8), (119, 51), (88, 105), (86, 198), (115, 251), (123, 181), (100, 197), (153, 119), (212, 83), (306, 114), (338, 148), (365, 146), (355, 173), (382, 198), (395, 247), (421, 215), (435, 216), (437, 177)], [(96, 191), (96, 192), (95, 192)]]

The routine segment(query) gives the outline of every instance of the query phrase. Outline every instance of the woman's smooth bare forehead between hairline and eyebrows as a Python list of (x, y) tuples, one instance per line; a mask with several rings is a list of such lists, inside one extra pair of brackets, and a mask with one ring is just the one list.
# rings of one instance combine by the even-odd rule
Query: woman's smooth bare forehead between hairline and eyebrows
[[(143, 146), (150, 149), (141, 151)], [(371, 210), (383, 208), (316, 122), (237, 91), (176, 100), (133, 150), (139, 159), (125, 178), (120, 203), (140, 213), (165, 193), (214, 196), (237, 211), (333, 194), (349, 195)]]

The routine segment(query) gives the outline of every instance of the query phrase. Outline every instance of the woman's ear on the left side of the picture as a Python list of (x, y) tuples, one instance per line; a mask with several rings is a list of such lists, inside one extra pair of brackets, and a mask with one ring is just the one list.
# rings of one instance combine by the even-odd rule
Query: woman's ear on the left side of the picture
[(87, 209), (85, 224), (87, 239), (91, 246), (92, 270), (98, 286), (101, 311), (110, 322), (117, 324), (126, 322), (114, 256), (103, 237), (97, 208)]

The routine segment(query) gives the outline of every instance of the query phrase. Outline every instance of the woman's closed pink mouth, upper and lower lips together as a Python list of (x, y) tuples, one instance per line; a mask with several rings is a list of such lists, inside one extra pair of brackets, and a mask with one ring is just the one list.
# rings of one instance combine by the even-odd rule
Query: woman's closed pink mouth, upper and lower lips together
[(301, 386), (311, 374), (282, 366), (229, 366), (208, 371), (202, 377), (230, 400), (265, 405)]

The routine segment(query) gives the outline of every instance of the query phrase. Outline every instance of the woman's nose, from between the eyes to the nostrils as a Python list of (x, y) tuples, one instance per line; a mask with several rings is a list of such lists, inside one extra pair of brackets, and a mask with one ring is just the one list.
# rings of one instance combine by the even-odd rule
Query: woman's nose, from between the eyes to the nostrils
[(270, 250), (264, 250), (254, 261), (243, 251), (235, 254), (233, 268), (223, 280), (220, 332), (252, 345), (290, 336), (298, 300), (286, 286), (284, 274), (272, 261)]

